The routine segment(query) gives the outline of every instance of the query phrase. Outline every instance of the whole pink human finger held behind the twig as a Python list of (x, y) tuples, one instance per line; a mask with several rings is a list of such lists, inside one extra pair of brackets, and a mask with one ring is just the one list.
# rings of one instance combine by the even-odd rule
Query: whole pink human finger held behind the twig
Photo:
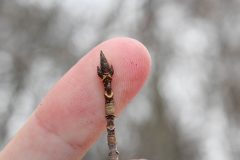
[(114, 67), (112, 87), (119, 115), (150, 70), (147, 49), (130, 38), (105, 41), (74, 65), (0, 152), (0, 160), (77, 160), (84, 156), (106, 125), (103, 84), (97, 76), (100, 50)]

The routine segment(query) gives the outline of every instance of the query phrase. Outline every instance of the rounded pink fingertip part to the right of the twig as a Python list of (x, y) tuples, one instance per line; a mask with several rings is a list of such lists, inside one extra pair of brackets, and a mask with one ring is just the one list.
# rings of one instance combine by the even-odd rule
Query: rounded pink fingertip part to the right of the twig
[(141, 42), (128, 37), (107, 40), (99, 47), (114, 65), (113, 90), (116, 95), (117, 112), (120, 112), (148, 78), (151, 57)]

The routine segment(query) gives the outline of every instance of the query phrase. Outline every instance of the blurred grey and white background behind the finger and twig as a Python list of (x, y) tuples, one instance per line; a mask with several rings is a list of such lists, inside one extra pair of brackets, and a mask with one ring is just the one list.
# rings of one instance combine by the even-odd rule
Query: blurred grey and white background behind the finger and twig
[[(153, 62), (117, 120), (121, 159), (239, 159), (239, 0), (0, 0), (1, 148), (73, 64), (116, 36), (141, 41)], [(107, 150), (103, 135), (84, 160)]]

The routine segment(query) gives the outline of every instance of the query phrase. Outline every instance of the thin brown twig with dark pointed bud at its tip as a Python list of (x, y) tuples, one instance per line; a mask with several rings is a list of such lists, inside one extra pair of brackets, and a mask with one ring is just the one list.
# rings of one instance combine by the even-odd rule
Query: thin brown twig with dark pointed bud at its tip
[(109, 147), (108, 160), (118, 160), (119, 152), (117, 150), (116, 134), (115, 134), (115, 111), (114, 99), (112, 91), (112, 76), (114, 73), (113, 66), (109, 65), (103, 52), (100, 53), (100, 67), (97, 66), (98, 76), (102, 79), (104, 85), (105, 97), (105, 116), (107, 120), (107, 141)]

